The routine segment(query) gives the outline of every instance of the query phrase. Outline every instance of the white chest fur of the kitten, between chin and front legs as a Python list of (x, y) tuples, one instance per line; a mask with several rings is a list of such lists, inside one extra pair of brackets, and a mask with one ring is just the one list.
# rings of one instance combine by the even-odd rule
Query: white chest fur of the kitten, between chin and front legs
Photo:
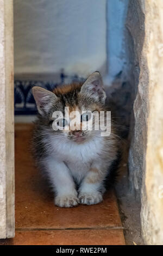
[(97, 137), (88, 142), (77, 144), (75, 142), (62, 142), (56, 138), (51, 140), (54, 157), (64, 161), (74, 178), (82, 180), (93, 161), (98, 161), (102, 152), (103, 138)]

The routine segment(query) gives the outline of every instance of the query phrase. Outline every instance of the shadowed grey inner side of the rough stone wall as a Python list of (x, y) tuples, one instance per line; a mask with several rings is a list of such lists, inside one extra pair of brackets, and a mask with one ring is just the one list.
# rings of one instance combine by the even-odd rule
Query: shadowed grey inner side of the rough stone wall
[[(144, 169), (144, 158), (146, 147), (147, 126), (147, 91), (148, 91), (148, 71), (141, 66), (146, 66), (146, 56), (142, 54), (142, 47), (145, 38), (145, 6), (144, 1), (130, 1), (128, 8), (127, 28), (129, 58), (131, 62), (131, 84), (135, 97), (134, 111), (131, 117), (131, 147), (129, 151), (129, 180), (130, 189), (137, 198), (140, 199), (142, 186), (142, 169)], [(139, 80), (140, 78), (140, 80)], [(142, 80), (141, 80), (142, 79)], [(135, 127), (134, 127), (135, 125)], [(143, 143), (140, 143), (143, 142)]]

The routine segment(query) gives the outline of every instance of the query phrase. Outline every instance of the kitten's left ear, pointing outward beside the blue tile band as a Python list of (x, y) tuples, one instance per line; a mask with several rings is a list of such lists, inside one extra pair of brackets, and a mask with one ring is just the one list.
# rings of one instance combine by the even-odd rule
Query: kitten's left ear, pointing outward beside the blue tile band
[(41, 115), (48, 113), (52, 105), (57, 101), (57, 96), (49, 90), (39, 86), (32, 88), (33, 96), (36, 101), (37, 109)]

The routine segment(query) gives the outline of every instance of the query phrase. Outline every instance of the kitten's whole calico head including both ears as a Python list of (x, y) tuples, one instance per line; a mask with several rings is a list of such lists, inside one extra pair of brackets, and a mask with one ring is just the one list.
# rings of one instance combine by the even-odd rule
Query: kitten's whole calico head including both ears
[(58, 87), (53, 92), (33, 87), (33, 94), (46, 129), (56, 136), (83, 143), (97, 135), (93, 113), (102, 110), (106, 97), (99, 72), (84, 84)]

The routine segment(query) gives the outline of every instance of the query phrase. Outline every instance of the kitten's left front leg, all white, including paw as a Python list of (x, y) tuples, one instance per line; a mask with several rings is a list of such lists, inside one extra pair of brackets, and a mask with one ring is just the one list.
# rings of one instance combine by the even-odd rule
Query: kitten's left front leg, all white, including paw
[(46, 159), (46, 169), (55, 191), (55, 205), (60, 207), (78, 205), (76, 185), (66, 164), (48, 157)]

